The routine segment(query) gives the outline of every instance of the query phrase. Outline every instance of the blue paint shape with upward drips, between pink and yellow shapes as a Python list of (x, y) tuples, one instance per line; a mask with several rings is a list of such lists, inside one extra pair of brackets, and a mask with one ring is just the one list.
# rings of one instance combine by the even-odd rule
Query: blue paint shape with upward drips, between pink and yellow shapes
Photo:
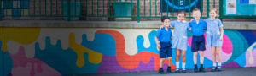
[(88, 53), (84, 53), (84, 66), (82, 68), (77, 67), (77, 54), (71, 48), (62, 49), (61, 41), (58, 40), (56, 45), (51, 45), (49, 37), (45, 40), (45, 49), (41, 50), (38, 42), (35, 45), (35, 58), (47, 63), (51, 68), (62, 75), (67, 74), (84, 74), (84, 73), (96, 73), (97, 68), (101, 63), (93, 64), (88, 61)]

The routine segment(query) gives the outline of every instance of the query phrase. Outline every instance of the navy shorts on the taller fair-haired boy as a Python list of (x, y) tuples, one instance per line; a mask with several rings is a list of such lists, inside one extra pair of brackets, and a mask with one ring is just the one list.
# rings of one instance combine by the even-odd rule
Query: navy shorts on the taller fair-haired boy
[(194, 36), (192, 37), (192, 45), (191, 45), (191, 51), (197, 52), (197, 51), (205, 51), (205, 36)]

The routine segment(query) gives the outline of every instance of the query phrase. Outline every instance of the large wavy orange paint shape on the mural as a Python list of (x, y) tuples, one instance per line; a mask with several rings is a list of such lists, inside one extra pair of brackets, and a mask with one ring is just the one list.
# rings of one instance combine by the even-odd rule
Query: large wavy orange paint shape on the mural
[[(140, 61), (148, 63), (150, 57), (154, 57), (154, 69), (158, 70), (160, 65), (159, 54), (154, 52), (139, 52), (136, 55), (128, 55), (125, 52), (125, 37), (116, 30), (97, 30), (96, 33), (107, 33), (112, 35), (116, 44), (116, 57), (119, 64), (126, 69), (134, 69), (139, 66)], [(166, 60), (164, 63), (168, 63)], [(172, 69), (176, 67), (172, 64)]]

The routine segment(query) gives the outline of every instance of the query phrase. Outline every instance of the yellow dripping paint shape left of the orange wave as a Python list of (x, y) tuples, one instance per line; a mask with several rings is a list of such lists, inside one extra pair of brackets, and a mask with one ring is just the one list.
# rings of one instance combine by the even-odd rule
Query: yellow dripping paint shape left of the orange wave
[(70, 33), (69, 35), (69, 47), (73, 49), (78, 55), (77, 66), (79, 68), (84, 66), (84, 52), (88, 53), (88, 61), (94, 64), (98, 64), (102, 62), (102, 53), (91, 51), (90, 49), (76, 44), (75, 43), (75, 35)]

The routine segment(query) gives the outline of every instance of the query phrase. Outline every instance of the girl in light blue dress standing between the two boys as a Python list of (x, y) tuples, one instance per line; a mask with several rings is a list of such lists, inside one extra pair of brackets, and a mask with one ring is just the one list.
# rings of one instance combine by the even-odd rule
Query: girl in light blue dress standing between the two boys
[(181, 10), (177, 13), (177, 20), (170, 23), (174, 28), (172, 35), (172, 48), (176, 49), (176, 73), (179, 73), (180, 56), (182, 56), (182, 72), (186, 72), (186, 50), (188, 46), (187, 32), (190, 29), (189, 22), (185, 20), (186, 13)]

